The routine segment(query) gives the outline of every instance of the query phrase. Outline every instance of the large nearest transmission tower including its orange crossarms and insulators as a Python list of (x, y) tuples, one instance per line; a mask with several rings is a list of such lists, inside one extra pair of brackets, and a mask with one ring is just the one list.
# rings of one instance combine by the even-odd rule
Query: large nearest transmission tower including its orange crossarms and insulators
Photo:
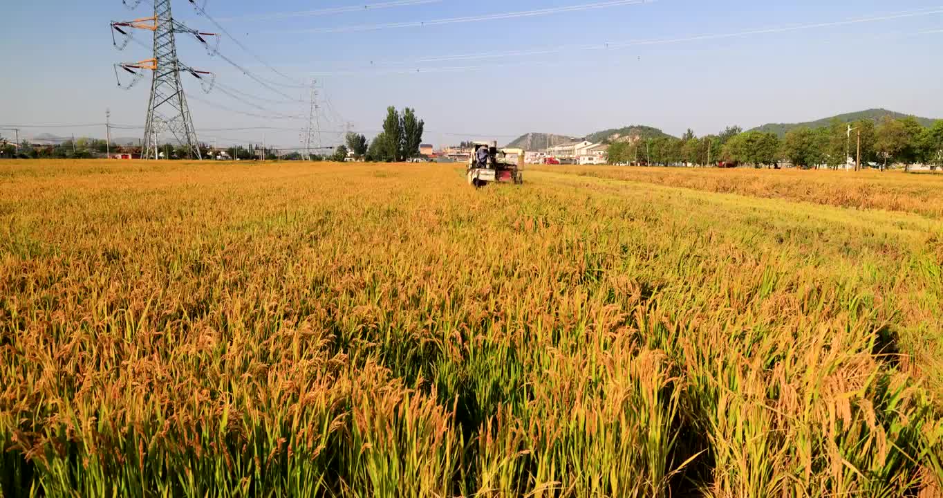
[[(137, 3), (134, 5), (137, 6)], [(171, 0), (154, 0), (154, 17), (128, 22), (113, 22), (111, 27), (112, 39), (119, 49), (124, 48), (131, 36), (124, 28), (145, 29), (154, 33), (153, 58), (115, 65), (115, 77), (118, 78), (118, 86), (123, 88), (130, 88), (140, 79), (142, 74), (135, 70), (152, 72), (151, 95), (147, 104), (147, 118), (144, 121), (144, 145), (141, 158), (158, 158), (160, 135), (170, 132), (175, 141), (187, 148), (191, 157), (202, 159), (196, 138), (196, 130), (193, 128), (193, 120), (190, 117), (190, 108), (187, 106), (187, 95), (184, 93), (183, 85), (180, 82), (180, 72), (186, 71), (197, 79), (203, 80), (204, 91), (207, 92), (212, 89), (214, 75), (206, 71), (197, 71), (182, 64), (177, 58), (174, 35), (176, 33), (189, 33), (197, 41), (202, 42), (210, 53), (213, 53), (215, 48), (211, 47), (207, 42), (207, 38), (216, 37), (216, 44), (218, 45), (219, 35), (202, 33), (174, 21), (174, 16), (171, 13)], [(115, 38), (115, 32), (124, 36), (123, 42), (118, 42)], [(121, 78), (118, 77), (118, 69), (130, 73), (135, 79), (129, 84), (123, 85)]]

